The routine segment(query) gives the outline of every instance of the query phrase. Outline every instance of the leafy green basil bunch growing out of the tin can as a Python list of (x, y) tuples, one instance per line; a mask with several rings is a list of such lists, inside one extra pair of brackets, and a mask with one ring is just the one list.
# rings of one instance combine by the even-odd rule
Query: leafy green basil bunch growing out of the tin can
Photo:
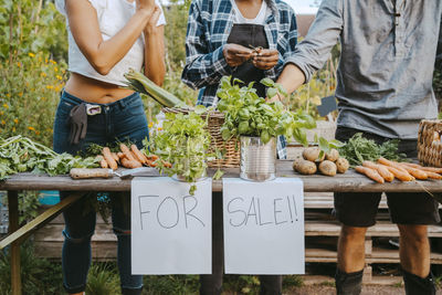
[[(224, 124), (221, 127), (221, 135), (224, 140), (233, 136), (256, 136), (266, 144), (271, 137), (284, 135), (287, 139), (294, 138), (303, 145), (308, 145), (304, 128), (316, 127), (316, 122), (312, 116), (303, 110), (292, 113), (284, 107), (281, 102), (266, 103), (263, 97), (259, 97), (253, 88), (253, 83), (249, 86), (240, 87), (239, 80), (224, 76), (218, 89), (220, 102), (218, 109), (224, 113)], [(270, 78), (261, 81), (269, 86), (267, 95), (274, 96), (276, 93), (286, 95), (281, 85)]]

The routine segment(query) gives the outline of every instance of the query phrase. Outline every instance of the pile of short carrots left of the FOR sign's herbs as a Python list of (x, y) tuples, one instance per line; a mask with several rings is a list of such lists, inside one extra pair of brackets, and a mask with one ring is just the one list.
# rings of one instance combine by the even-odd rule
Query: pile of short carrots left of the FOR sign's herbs
[[(143, 154), (136, 145), (131, 145), (130, 149), (125, 144), (119, 144), (120, 151), (113, 152), (108, 147), (102, 149), (99, 157), (99, 165), (102, 168), (110, 168), (116, 170), (118, 164), (125, 168), (138, 168), (141, 166), (156, 167), (158, 156)], [(165, 164), (169, 166), (170, 164)]]

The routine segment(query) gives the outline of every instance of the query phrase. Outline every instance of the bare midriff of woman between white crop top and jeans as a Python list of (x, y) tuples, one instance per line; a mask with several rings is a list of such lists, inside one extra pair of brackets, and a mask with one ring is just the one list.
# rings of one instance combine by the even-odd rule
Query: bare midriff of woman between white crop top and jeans
[(77, 73), (71, 73), (65, 91), (82, 101), (96, 104), (109, 104), (129, 96), (134, 91), (118, 85), (90, 78)]

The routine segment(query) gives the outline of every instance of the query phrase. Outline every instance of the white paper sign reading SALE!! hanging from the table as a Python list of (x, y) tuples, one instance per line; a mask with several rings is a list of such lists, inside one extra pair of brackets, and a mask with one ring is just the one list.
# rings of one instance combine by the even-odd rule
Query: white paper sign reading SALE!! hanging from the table
[(304, 191), (296, 178), (223, 179), (225, 273), (304, 274)]

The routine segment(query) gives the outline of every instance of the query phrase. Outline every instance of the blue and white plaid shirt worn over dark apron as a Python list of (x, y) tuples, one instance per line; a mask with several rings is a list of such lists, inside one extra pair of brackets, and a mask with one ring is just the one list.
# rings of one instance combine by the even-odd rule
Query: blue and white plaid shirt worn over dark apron
[[(276, 80), (284, 62), (297, 43), (296, 17), (293, 9), (281, 0), (265, 0), (272, 13), (266, 17), (264, 31), (269, 49), (280, 52), (280, 61), (267, 71), (266, 77)], [(186, 66), (181, 80), (192, 88), (202, 88), (198, 104), (217, 105), (218, 85), (222, 76), (231, 75), (225, 62), (223, 45), (233, 27), (234, 12), (231, 0), (193, 0), (190, 4), (186, 36)], [(285, 138), (277, 140), (280, 159), (286, 158)]]

